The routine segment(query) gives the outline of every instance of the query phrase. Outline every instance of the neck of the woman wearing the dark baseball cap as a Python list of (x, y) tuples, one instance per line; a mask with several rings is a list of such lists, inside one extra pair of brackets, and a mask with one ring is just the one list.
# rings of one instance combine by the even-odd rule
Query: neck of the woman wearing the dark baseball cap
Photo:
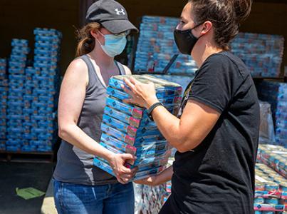
[(98, 42), (95, 43), (95, 48), (89, 53), (89, 55), (100, 67), (110, 67), (115, 64), (114, 58), (105, 54)]

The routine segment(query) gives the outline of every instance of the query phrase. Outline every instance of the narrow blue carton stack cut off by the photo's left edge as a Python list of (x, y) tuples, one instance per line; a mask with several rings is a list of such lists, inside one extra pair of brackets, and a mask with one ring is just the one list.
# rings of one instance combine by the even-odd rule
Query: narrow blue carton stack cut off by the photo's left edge
[(8, 96), (6, 67), (6, 58), (0, 58), (0, 151), (6, 150), (6, 109)]

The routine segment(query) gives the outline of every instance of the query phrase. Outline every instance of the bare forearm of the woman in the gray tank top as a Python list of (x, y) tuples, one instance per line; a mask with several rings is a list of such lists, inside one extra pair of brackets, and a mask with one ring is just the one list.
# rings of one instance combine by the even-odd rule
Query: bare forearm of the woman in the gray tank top
[(94, 156), (100, 156), (105, 160), (110, 161), (113, 153), (108, 149), (100, 146), (100, 144), (90, 138), (75, 124), (67, 125), (65, 128), (59, 129), (59, 136), (73, 146), (80, 148), (81, 150), (90, 153)]

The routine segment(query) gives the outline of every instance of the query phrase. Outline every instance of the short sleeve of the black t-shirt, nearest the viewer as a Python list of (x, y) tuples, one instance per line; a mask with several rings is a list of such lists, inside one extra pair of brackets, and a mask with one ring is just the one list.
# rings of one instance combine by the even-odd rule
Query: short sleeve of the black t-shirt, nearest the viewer
[(192, 83), (189, 99), (222, 113), (231, 101), (231, 66), (224, 56), (208, 58)]

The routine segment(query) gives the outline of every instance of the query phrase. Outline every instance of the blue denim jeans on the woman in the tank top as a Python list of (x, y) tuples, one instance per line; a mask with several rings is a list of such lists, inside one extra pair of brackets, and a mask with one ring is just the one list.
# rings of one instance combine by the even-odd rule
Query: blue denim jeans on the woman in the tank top
[(133, 214), (132, 183), (78, 185), (53, 180), (58, 214)]

